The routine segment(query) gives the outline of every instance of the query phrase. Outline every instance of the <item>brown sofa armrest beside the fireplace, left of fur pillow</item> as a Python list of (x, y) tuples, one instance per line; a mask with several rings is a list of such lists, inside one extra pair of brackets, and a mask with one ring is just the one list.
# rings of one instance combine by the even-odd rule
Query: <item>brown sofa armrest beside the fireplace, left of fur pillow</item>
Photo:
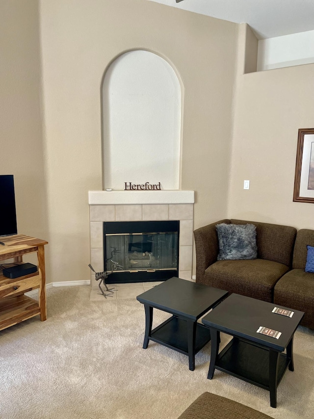
[(198, 283), (205, 284), (205, 271), (217, 260), (219, 245), (216, 225), (221, 223), (230, 224), (230, 220), (220, 220), (194, 230), (196, 282)]

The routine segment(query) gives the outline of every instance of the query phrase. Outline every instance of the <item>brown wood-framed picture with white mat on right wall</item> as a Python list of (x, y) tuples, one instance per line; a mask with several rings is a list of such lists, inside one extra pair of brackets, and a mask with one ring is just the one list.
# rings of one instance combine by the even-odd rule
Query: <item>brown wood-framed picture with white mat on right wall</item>
[(299, 129), (293, 201), (314, 203), (314, 128)]

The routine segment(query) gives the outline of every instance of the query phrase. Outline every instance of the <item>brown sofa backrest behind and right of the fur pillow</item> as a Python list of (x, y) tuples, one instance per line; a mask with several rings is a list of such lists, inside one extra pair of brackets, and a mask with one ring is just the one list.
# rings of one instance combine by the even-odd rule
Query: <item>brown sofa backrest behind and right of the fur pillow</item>
[[(291, 266), (296, 228), (288, 225), (230, 220), (233, 224), (256, 225), (257, 257)], [(310, 244), (310, 243), (308, 243)]]

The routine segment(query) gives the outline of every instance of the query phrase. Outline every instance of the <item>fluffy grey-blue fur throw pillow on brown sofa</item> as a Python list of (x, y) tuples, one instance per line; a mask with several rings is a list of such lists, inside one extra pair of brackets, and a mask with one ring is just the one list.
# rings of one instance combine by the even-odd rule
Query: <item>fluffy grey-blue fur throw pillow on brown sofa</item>
[(256, 226), (254, 224), (217, 224), (219, 254), (217, 260), (256, 259)]

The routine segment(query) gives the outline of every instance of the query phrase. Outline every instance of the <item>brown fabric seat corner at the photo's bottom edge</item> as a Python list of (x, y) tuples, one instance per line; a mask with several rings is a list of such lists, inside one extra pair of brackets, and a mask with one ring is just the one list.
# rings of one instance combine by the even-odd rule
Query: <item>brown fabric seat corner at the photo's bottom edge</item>
[(251, 407), (209, 392), (201, 394), (178, 419), (270, 419)]

